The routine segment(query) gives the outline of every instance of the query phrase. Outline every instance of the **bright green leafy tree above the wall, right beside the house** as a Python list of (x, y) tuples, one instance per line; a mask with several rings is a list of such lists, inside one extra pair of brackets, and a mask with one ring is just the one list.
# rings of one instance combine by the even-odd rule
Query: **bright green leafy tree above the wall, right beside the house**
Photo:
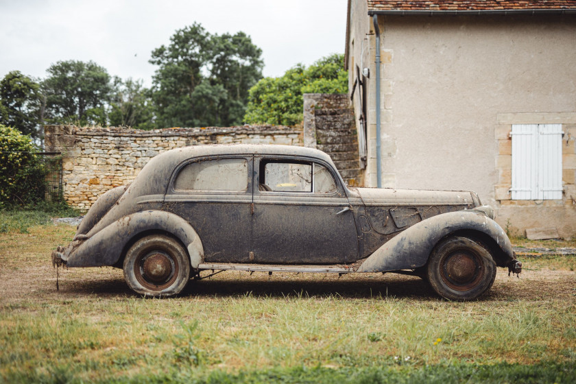
[(283, 76), (265, 77), (250, 88), (244, 121), (296, 125), (303, 119), (302, 94), (347, 92), (344, 55), (326, 56), (308, 68), (296, 64)]

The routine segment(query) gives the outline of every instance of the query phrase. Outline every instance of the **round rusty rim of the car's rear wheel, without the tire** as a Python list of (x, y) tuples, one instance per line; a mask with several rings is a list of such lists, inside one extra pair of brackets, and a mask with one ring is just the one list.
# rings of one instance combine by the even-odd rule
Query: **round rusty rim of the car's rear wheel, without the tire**
[(170, 287), (178, 277), (178, 260), (168, 252), (154, 250), (143, 253), (134, 263), (136, 280), (152, 291)]

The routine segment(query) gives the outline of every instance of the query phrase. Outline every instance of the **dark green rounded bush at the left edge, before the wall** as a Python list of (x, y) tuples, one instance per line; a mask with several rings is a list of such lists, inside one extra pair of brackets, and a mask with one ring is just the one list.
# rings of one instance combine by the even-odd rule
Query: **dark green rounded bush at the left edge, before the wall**
[(46, 171), (28, 135), (0, 124), (0, 208), (43, 200)]

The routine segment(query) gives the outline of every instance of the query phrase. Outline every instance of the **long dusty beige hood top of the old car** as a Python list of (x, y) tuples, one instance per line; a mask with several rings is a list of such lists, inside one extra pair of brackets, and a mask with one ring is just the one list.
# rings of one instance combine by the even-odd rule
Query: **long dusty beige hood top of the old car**
[(459, 205), (474, 208), (481, 205), (478, 195), (470, 191), (424, 191), (419, 189), (352, 188), (350, 200), (364, 205)]

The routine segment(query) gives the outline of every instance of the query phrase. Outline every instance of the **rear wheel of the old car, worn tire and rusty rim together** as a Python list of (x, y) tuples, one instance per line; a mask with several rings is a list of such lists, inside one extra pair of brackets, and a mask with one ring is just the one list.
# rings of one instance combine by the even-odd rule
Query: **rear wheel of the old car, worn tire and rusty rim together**
[(173, 296), (190, 279), (190, 261), (184, 247), (165, 235), (139, 239), (126, 253), (124, 278), (130, 289), (145, 296)]

